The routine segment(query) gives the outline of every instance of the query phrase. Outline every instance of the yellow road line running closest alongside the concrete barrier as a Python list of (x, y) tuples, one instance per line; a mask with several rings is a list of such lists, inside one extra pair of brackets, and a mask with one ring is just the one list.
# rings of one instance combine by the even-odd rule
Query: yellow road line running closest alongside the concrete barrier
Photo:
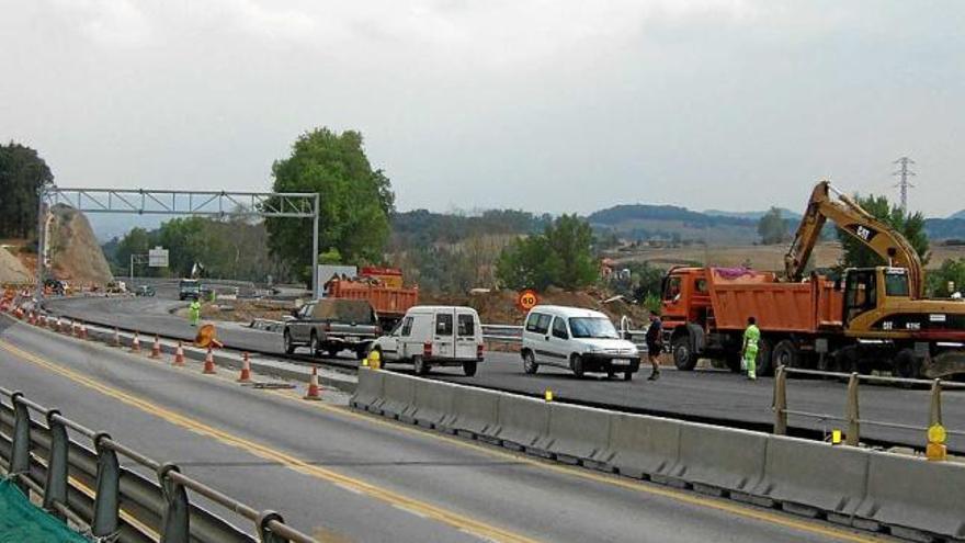
[[(0, 340), (0, 347), (3, 347), (2, 343), (4, 343), (4, 341)], [(13, 346), (11, 346), (11, 347), (13, 347)], [(15, 349), (15, 347), (14, 347), (14, 349)], [(30, 353), (25, 353), (25, 354), (31, 355)], [(145, 359), (145, 360), (147, 360), (147, 359)], [(177, 369), (171, 367), (171, 366), (166, 365), (166, 367), (169, 367), (169, 370), (171, 370), (171, 371), (177, 371)], [(198, 378), (208, 378), (209, 380), (212, 377), (215, 377), (219, 381), (224, 381), (226, 383), (234, 383), (232, 380), (230, 380), (228, 377), (224, 377), (220, 374), (214, 375), (214, 376), (198, 375)], [(855, 543), (871, 543), (871, 542), (878, 542), (879, 543), (881, 541), (884, 540), (884, 538), (878, 538), (878, 536), (874, 536), (874, 535), (865, 535), (865, 534), (858, 533), (854, 531), (849, 531), (847, 529), (839, 529), (839, 528), (829, 527), (826, 524), (820, 524), (817, 522), (799, 520), (799, 519), (786, 517), (784, 514), (780, 514), (776, 512), (771, 512), (771, 511), (767, 511), (767, 510), (762, 510), (762, 509), (758, 509), (758, 508), (753, 508), (753, 507), (749, 507), (749, 506), (743, 506), (743, 505), (736, 504), (734, 501), (726, 500), (723, 498), (705, 497), (705, 496), (690, 494), (690, 493), (683, 491), (683, 490), (677, 490), (677, 489), (661, 487), (661, 486), (657, 486), (657, 485), (648, 485), (643, 482), (625, 479), (623, 477), (618, 477), (615, 475), (606, 475), (606, 474), (602, 474), (602, 473), (598, 473), (598, 472), (592, 472), (589, 470), (564, 466), (564, 465), (556, 464), (552, 461), (533, 459), (533, 457), (524, 455), (522, 453), (512, 453), (512, 452), (503, 451), (501, 449), (497, 449), (491, 445), (481, 445), (481, 444), (478, 444), (473, 441), (467, 441), (462, 438), (454, 438), (451, 435), (445, 435), (445, 434), (434, 432), (432, 430), (428, 430), (428, 429), (424, 429), (421, 427), (410, 426), (410, 425), (401, 425), (396, 421), (390, 421), (390, 420), (384, 419), (384, 418), (378, 417), (376, 415), (363, 414), (360, 411), (355, 411), (355, 410), (348, 408), (348, 407), (331, 406), (331, 405), (327, 405), (327, 404), (320, 403), (320, 401), (307, 403), (307, 401), (304, 401), (302, 399), (302, 396), (297, 392), (294, 392), (294, 391), (265, 389), (263, 392), (265, 392), (268, 394), (275, 395), (280, 398), (284, 398), (290, 401), (297, 403), (299, 406), (303, 406), (306, 408), (321, 409), (327, 412), (338, 415), (340, 417), (363, 420), (365, 422), (379, 425), (385, 428), (393, 429), (395, 431), (406, 432), (406, 433), (410, 433), (410, 434), (418, 434), (420, 437), (430, 438), (430, 439), (434, 439), (438, 441), (443, 441), (443, 442), (446, 442), (450, 444), (454, 444), (454, 445), (462, 446), (465, 449), (474, 450), (474, 451), (483, 453), (483, 454), (488, 454), (488, 455), (493, 455), (493, 456), (498, 456), (501, 459), (512, 460), (518, 463), (529, 464), (529, 465), (532, 465), (532, 466), (535, 466), (535, 467), (538, 467), (542, 470), (548, 470), (550, 472), (555, 472), (558, 474), (564, 474), (564, 475), (574, 476), (574, 477), (580, 477), (583, 479), (593, 480), (595, 483), (613, 485), (613, 486), (617, 486), (620, 488), (624, 488), (627, 490), (633, 490), (633, 491), (637, 491), (637, 493), (642, 493), (642, 494), (660, 496), (660, 497), (665, 497), (665, 498), (680, 501), (683, 504), (689, 504), (689, 505), (696, 506), (696, 507), (724, 511), (724, 512), (731, 513), (731, 514), (735, 514), (738, 517), (745, 517), (745, 518), (753, 519), (753, 520), (764, 522), (764, 523), (781, 525), (781, 527), (791, 528), (794, 530), (801, 530), (803, 532), (813, 533), (816, 535), (830, 538), (830, 539), (839, 540), (839, 541), (848, 541), (848, 542), (855, 542)], [(356, 491), (361, 491), (361, 489), (359, 489), (356, 487), (350, 486), (350, 488), (355, 488)]]

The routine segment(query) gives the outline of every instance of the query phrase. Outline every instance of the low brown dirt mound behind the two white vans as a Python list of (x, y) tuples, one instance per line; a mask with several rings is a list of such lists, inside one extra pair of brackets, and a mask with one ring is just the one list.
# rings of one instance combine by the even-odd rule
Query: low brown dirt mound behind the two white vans
[[(614, 324), (618, 324), (624, 315), (629, 317), (636, 327), (647, 321), (649, 312), (645, 307), (629, 304), (623, 299), (604, 303), (609, 297), (608, 293), (595, 289), (567, 292), (550, 287), (540, 295), (540, 303), (595, 309), (606, 314)], [(516, 307), (516, 293), (514, 291), (492, 291), (475, 295), (424, 295), (421, 296), (419, 303), (467, 305), (476, 309), (479, 313), (479, 318), (486, 324), (521, 325), (526, 316), (524, 312)]]

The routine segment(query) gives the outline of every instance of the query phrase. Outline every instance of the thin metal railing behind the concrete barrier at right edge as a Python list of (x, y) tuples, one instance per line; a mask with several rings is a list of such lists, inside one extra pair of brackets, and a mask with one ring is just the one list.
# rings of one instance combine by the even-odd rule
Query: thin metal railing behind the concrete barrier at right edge
[[(803, 411), (799, 409), (788, 409), (787, 408), (787, 375), (790, 375), (790, 374), (848, 380), (848, 392), (847, 392), (847, 403), (844, 406), (844, 416)], [(888, 421), (883, 421), (883, 420), (872, 420), (872, 419), (861, 418), (858, 388), (859, 388), (859, 384), (862, 381), (874, 382), (874, 383), (911, 385), (911, 386), (930, 386), (931, 387), (931, 393), (930, 393), (931, 405), (929, 408), (928, 427), (915, 426), (915, 425), (904, 425), (904, 423), (898, 423), (898, 422), (888, 422)], [(802, 369), (796, 369), (796, 367), (786, 367), (786, 366), (782, 365), (782, 366), (779, 366), (774, 373), (774, 401), (773, 401), (774, 433), (781, 434), (781, 435), (787, 433), (787, 416), (788, 415), (795, 415), (798, 417), (806, 417), (806, 418), (819, 419), (819, 420), (837, 420), (840, 422), (844, 422), (844, 423), (847, 423), (847, 427), (848, 427), (848, 430), (845, 431), (845, 434), (844, 434), (844, 443), (848, 445), (852, 445), (852, 446), (856, 446), (861, 440), (861, 426), (862, 425), (878, 426), (878, 427), (884, 427), (884, 428), (894, 428), (894, 429), (898, 429), (898, 430), (927, 432), (929, 427), (934, 426), (934, 425), (942, 425), (942, 389), (943, 388), (965, 389), (965, 383), (942, 381), (940, 378), (929, 381), (929, 380), (921, 380), (921, 378), (887, 377), (887, 376), (883, 376), (883, 375), (863, 375), (863, 374), (859, 374), (859, 373), (821, 372), (821, 371), (817, 371), (817, 370), (802, 370)], [(965, 430), (947, 430), (946, 429), (945, 433), (949, 435), (965, 437)]]

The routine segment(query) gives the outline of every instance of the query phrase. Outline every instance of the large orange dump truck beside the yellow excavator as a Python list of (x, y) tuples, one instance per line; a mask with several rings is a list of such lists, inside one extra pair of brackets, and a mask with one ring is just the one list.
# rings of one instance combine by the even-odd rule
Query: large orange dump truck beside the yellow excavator
[(759, 373), (775, 364), (826, 366), (822, 354), (844, 341), (843, 299), (822, 278), (786, 283), (742, 268), (674, 268), (663, 281), (663, 332), (679, 369), (718, 358), (738, 371), (747, 318), (753, 316), (762, 333)]

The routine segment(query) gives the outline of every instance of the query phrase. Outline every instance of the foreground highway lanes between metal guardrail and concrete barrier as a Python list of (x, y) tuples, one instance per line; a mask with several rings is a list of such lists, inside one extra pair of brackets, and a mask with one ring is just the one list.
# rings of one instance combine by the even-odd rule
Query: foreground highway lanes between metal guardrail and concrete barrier
[(878, 541), (243, 388), (0, 318), (0, 384), (323, 541)]

